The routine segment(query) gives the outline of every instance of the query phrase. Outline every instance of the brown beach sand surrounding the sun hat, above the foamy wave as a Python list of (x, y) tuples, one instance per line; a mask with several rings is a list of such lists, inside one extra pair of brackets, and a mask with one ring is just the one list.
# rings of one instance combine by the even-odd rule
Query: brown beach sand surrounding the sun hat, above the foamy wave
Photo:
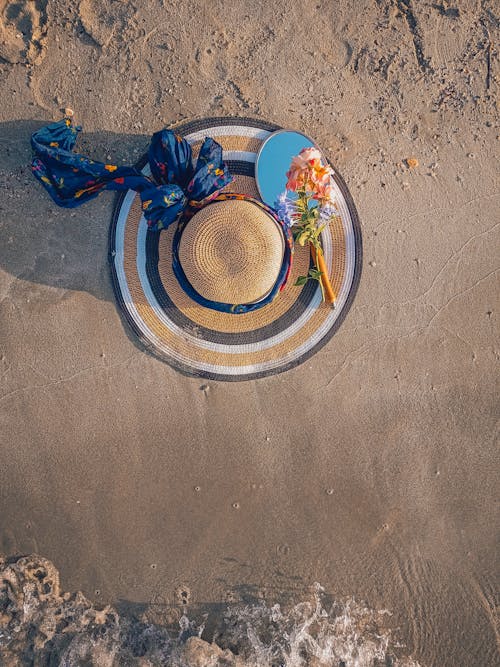
[[(320, 582), (390, 610), (421, 665), (497, 664), (493, 0), (2, 7), (0, 552), (138, 611)], [(124, 164), (193, 117), (314, 137), (364, 245), (327, 346), (208, 386), (145, 353), (111, 288), (112, 194), (69, 212), (30, 174), (66, 106), (82, 152)]]

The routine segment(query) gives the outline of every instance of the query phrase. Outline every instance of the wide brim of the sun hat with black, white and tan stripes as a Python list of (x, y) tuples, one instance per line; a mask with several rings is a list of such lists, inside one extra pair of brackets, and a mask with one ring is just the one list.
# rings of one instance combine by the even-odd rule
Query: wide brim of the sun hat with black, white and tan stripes
[[(223, 148), (233, 182), (226, 188), (258, 198), (256, 155), (276, 125), (251, 118), (207, 118), (182, 123), (177, 133), (196, 156), (205, 137)], [(138, 165), (148, 173), (146, 156)], [(337, 294), (335, 308), (322, 303), (316, 281), (294, 286), (311, 266), (307, 247), (296, 245), (292, 274), (268, 305), (243, 314), (203, 308), (191, 300), (172, 270), (174, 225), (148, 230), (139, 196), (118, 196), (110, 227), (110, 265), (119, 306), (143, 344), (189, 375), (247, 380), (297, 366), (335, 333), (354, 298), (361, 273), (361, 233), (349, 191), (335, 170), (339, 215), (322, 232), (326, 266)]]

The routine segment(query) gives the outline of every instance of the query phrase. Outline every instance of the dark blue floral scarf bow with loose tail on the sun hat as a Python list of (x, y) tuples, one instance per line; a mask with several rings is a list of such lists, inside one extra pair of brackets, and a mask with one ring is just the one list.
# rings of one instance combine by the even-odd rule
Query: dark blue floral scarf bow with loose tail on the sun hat
[(58, 206), (73, 208), (103, 190), (136, 190), (152, 231), (165, 229), (188, 206), (199, 207), (233, 180), (221, 146), (206, 138), (196, 166), (190, 144), (172, 130), (153, 134), (148, 150), (151, 178), (136, 167), (91, 160), (73, 152), (81, 127), (71, 118), (51, 123), (31, 137), (33, 175)]

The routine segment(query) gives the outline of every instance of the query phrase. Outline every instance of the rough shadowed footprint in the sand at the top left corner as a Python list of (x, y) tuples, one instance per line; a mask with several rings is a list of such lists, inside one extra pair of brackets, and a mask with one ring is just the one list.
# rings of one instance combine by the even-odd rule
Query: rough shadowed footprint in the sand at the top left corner
[(45, 54), (47, 0), (0, 0), (0, 60), (34, 64)]

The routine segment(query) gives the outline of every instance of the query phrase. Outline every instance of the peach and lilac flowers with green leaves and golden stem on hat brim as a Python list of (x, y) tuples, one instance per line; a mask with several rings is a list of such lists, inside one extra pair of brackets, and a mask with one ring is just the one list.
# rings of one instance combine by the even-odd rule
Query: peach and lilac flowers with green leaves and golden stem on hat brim
[(294, 240), (301, 246), (309, 243), (315, 267), (307, 276), (299, 276), (295, 285), (317, 280), (323, 301), (334, 304), (336, 296), (321, 247), (321, 232), (338, 215), (333, 200), (333, 169), (324, 164), (317, 148), (304, 148), (293, 158), (286, 176), (286, 190), (278, 197), (275, 208), (280, 218), (293, 227)]

